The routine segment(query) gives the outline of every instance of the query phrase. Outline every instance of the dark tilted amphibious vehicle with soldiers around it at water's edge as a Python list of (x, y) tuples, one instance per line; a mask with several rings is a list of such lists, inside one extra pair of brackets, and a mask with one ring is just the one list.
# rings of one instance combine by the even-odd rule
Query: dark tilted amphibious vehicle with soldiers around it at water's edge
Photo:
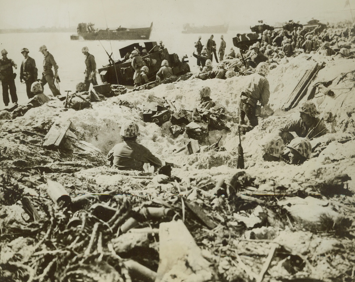
[[(186, 74), (190, 71), (190, 66), (187, 64), (187, 56), (179, 59), (178, 54), (169, 54), (168, 49), (160, 49), (157, 42), (153, 41), (133, 43), (119, 49), (121, 58), (124, 58), (127, 53), (131, 54), (134, 49), (138, 49), (139, 52), (142, 52), (143, 49), (147, 50), (148, 54), (143, 56), (142, 59), (146, 66), (148, 66), (148, 79), (150, 81), (155, 80), (155, 75), (160, 69), (163, 60), (168, 60), (169, 66), (173, 69), (173, 74), (176, 76)], [(132, 62), (130, 60), (125, 61), (124, 59), (121, 59), (115, 61), (115, 64), (113, 64), (113, 60), (110, 57), (109, 62), (108, 65), (98, 69), (103, 83), (107, 82), (110, 84), (120, 84), (125, 86), (134, 85), (133, 74), (135, 70), (132, 68)]]

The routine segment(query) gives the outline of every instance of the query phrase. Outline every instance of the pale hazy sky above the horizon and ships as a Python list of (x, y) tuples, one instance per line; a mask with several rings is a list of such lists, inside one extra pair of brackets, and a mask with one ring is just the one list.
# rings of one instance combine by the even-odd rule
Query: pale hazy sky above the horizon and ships
[(109, 28), (195, 25), (254, 25), (264, 20), (306, 23), (312, 17), (323, 22), (351, 20), (355, 0), (0, 0), (0, 28), (77, 26), (93, 22)]

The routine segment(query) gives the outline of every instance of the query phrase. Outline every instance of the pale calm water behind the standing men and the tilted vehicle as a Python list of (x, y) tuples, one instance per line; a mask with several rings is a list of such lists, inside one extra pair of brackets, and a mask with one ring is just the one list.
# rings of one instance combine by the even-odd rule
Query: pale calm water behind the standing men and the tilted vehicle
[[(163, 41), (165, 48), (169, 53), (177, 53), (181, 58), (187, 54), (189, 56), (189, 64), (191, 71), (197, 71), (196, 59), (192, 57), (192, 53), (195, 50), (194, 45), (198, 40), (198, 36), (201, 35), (202, 44), (206, 44), (207, 39), (211, 34), (184, 34), (181, 32), (182, 28), (176, 28), (175, 30), (164, 30), (162, 27), (154, 28), (151, 33), (151, 37), (147, 41)], [(247, 32), (247, 31), (242, 31)], [(224, 34), (224, 40), (226, 41), (226, 50), (229, 50), (233, 46), (232, 38), (241, 31), (229, 30)], [(23, 47), (29, 49), (29, 56), (32, 57), (38, 68), (38, 78), (42, 78), (43, 71), (43, 54), (40, 53), (39, 47), (43, 44), (47, 46), (48, 51), (54, 56), (56, 63), (59, 66), (58, 74), (60, 77), (59, 88), (62, 95), (65, 95), (65, 90), (71, 90), (75, 92), (75, 85), (84, 80), (85, 57), (81, 52), (81, 48), (87, 46), (89, 53), (95, 56), (97, 68), (108, 64), (108, 56), (104, 50), (107, 50), (109, 54), (113, 53), (115, 60), (120, 59), (119, 49), (129, 44), (135, 43), (135, 40), (126, 41), (87, 41), (87, 40), (70, 40), (71, 33), (3, 33), (0, 34), (0, 49), (6, 49), (7, 57), (14, 60), (17, 64), (17, 73), (15, 79), (17, 97), (19, 104), (26, 104), (28, 99), (26, 95), (26, 85), (20, 83), (20, 66), (23, 60), (23, 56), (20, 50)], [(213, 34), (214, 40), (217, 43), (217, 48), (220, 44), (221, 34)], [(144, 42), (144, 41), (142, 41)], [(235, 48), (235, 47), (234, 47)], [(236, 48), (235, 48), (236, 50)], [(100, 83), (100, 77), (97, 75), (98, 83)], [(2, 101), (2, 88), (0, 87), (0, 110), (5, 107)], [(44, 86), (44, 93), (51, 93), (48, 85)], [(10, 105), (11, 106), (11, 98)]]

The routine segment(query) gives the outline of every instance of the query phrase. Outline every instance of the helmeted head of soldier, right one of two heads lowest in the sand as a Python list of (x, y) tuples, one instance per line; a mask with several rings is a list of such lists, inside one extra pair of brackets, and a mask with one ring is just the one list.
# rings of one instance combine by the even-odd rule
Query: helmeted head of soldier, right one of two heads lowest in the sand
[(312, 145), (307, 138), (296, 137), (286, 147), (290, 149), (291, 164), (303, 164), (311, 158)]

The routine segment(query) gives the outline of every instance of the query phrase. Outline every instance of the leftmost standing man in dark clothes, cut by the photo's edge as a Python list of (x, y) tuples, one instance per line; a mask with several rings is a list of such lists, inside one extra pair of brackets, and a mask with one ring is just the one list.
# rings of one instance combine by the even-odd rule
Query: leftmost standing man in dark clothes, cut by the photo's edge
[(17, 65), (13, 60), (7, 58), (7, 51), (5, 49), (1, 50), (2, 58), (0, 59), (0, 79), (2, 84), (2, 99), (5, 106), (9, 106), (9, 89), (12, 103), (17, 104), (17, 94), (15, 86), (15, 76), (12, 67), (17, 69)]

